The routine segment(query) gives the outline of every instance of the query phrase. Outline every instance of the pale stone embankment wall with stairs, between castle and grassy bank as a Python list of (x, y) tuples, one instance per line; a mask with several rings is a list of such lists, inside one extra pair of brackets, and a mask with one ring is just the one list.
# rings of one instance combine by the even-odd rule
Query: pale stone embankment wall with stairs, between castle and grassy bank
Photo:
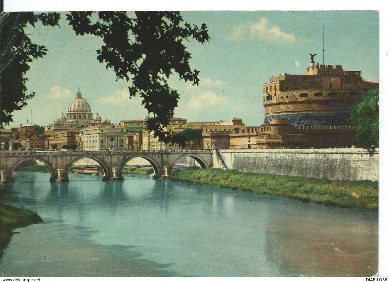
[[(332, 180), (378, 181), (379, 154), (363, 149), (213, 150), (215, 168)], [(221, 158), (223, 160), (221, 160)]]

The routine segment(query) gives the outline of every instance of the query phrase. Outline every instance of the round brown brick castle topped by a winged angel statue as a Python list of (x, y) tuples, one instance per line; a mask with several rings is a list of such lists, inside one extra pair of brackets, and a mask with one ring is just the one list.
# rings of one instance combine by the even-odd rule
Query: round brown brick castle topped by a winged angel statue
[[(349, 108), (379, 83), (360, 71), (315, 64), (263, 85), (264, 124), (230, 131), (230, 149), (333, 148), (355, 145)], [(218, 137), (217, 137), (218, 138)]]

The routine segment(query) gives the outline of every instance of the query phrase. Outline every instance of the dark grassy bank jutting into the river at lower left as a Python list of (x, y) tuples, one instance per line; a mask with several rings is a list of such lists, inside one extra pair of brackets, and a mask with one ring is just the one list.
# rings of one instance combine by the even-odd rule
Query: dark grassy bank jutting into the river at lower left
[(42, 222), (37, 213), (5, 204), (1, 204), (0, 215), (0, 257), (11, 241), (14, 229)]

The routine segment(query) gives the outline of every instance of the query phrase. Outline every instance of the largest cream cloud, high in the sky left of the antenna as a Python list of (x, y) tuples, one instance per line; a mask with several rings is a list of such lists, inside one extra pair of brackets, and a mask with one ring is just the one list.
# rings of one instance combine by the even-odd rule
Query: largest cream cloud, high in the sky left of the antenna
[(272, 26), (267, 18), (260, 18), (255, 23), (242, 23), (234, 27), (229, 39), (264, 39), (273, 42), (293, 42), (295, 35), (282, 32), (280, 27), (276, 25)]

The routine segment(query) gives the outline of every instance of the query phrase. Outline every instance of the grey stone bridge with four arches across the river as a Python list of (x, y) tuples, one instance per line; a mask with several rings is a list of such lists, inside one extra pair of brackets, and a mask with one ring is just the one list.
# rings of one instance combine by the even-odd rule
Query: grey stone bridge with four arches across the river
[(4, 151), (0, 152), (0, 183), (13, 183), (12, 174), (27, 160), (43, 162), (50, 170), (53, 182), (69, 181), (72, 165), (83, 158), (95, 160), (104, 171), (103, 180), (122, 180), (122, 170), (133, 158), (144, 158), (154, 168), (156, 176), (169, 175), (179, 158), (191, 157), (202, 168), (213, 166), (214, 150), (150, 150), (150, 151)]

